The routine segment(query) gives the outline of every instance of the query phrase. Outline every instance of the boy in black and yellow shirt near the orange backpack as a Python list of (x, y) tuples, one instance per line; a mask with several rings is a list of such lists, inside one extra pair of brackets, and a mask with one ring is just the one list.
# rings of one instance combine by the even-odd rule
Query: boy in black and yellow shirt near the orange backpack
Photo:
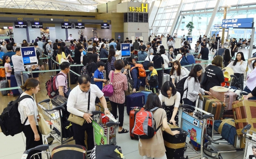
[(158, 93), (157, 71), (153, 63), (148, 63), (148, 70), (150, 70), (150, 73), (148, 74), (147, 84), (150, 86), (152, 93)]

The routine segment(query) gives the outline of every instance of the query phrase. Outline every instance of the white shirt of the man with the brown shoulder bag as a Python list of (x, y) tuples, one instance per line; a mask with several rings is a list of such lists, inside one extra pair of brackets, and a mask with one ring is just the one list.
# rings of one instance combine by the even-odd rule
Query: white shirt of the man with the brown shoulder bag
[[(89, 114), (92, 114), (92, 111), (95, 110), (96, 97), (101, 98), (104, 93), (101, 92), (101, 89), (95, 84), (91, 84), (89, 91), (91, 91)], [(87, 112), (89, 91), (81, 91), (79, 85), (72, 89), (67, 99), (67, 111), (82, 117), (84, 113), (79, 110)]]

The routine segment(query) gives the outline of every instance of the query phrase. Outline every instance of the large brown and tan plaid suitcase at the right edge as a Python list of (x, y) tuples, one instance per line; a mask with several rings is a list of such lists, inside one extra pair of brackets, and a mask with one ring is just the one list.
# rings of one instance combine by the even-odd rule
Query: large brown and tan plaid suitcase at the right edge
[(252, 126), (252, 131), (256, 131), (256, 100), (241, 100), (233, 103), (236, 133), (242, 135), (243, 127), (248, 124)]

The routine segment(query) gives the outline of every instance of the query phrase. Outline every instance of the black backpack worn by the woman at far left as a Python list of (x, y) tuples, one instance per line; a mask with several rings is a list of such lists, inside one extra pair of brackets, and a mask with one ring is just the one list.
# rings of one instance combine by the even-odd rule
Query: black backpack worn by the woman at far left
[(30, 95), (23, 95), (22, 97), (19, 96), (17, 100), (9, 102), (7, 108), (4, 108), (2, 114), (0, 115), (0, 127), (6, 136), (14, 136), (15, 134), (22, 132), (24, 124), (27, 122), (27, 118), (25, 122), (21, 124), (18, 102), (25, 98), (33, 99)]

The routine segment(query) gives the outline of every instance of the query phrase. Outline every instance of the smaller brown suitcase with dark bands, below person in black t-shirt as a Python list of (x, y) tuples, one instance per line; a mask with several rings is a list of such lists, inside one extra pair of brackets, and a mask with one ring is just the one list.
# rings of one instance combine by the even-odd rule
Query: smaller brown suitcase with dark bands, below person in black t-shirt
[[(213, 114), (216, 120), (220, 120), (223, 117), (226, 104), (210, 95), (202, 95), (202, 97), (203, 110)], [(200, 97), (200, 100), (202, 100), (202, 97)]]

